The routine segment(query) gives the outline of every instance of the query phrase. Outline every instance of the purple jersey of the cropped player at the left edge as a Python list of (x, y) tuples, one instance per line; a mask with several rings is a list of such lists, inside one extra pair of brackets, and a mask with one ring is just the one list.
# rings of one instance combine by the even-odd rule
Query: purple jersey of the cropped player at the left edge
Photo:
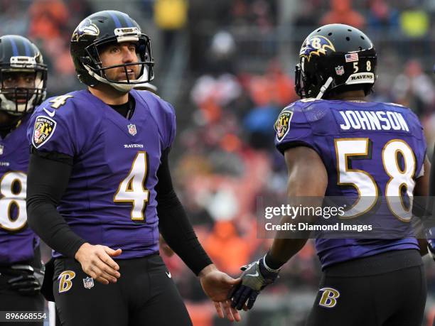
[(27, 225), (26, 178), (30, 155), (26, 130), (30, 115), (0, 138), (0, 265), (31, 261), (39, 244)]

